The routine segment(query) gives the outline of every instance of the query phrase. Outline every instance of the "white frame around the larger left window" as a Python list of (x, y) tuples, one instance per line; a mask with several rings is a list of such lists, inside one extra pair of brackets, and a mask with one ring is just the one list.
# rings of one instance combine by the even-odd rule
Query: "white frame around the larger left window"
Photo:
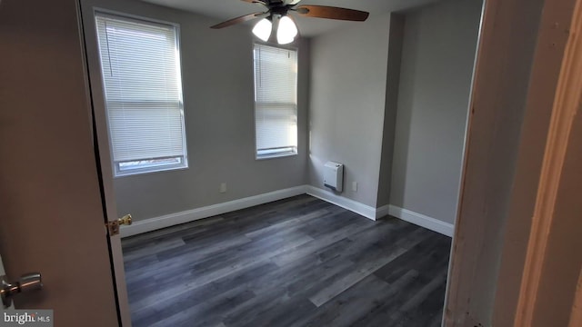
[[(106, 96), (106, 86), (105, 86), (105, 75), (103, 74), (103, 62), (101, 58), (101, 48), (99, 43), (99, 30), (97, 28), (96, 19), (97, 16), (101, 15), (104, 17), (110, 17), (119, 20), (126, 20), (126, 21), (138, 21), (144, 24), (150, 25), (167, 25), (169, 27), (174, 28), (175, 31), (175, 45), (176, 45), (176, 64), (178, 67), (178, 72), (176, 72), (176, 76), (178, 78), (179, 83), (179, 93), (180, 93), (180, 115), (181, 115), (181, 124), (182, 124), (182, 143), (183, 143), (183, 154), (178, 156), (170, 156), (170, 157), (156, 157), (156, 158), (142, 158), (140, 160), (135, 161), (119, 161), (116, 162), (114, 159), (113, 154), (113, 139), (110, 129), (110, 121), (109, 121), (109, 109), (108, 109), (108, 101)], [(184, 102), (184, 84), (183, 84), (183, 67), (182, 67), (182, 51), (181, 51), (181, 31), (180, 25), (174, 22), (168, 22), (164, 20), (159, 20), (156, 18), (145, 17), (141, 15), (132, 15), (126, 14), (114, 10), (109, 10), (100, 7), (94, 7), (93, 10), (93, 22), (95, 24), (95, 41), (96, 41), (96, 51), (97, 51), (97, 59), (99, 61), (99, 74), (101, 78), (101, 88), (102, 88), (102, 96), (103, 96), (103, 104), (105, 109), (105, 125), (107, 129), (107, 139), (109, 141), (109, 153), (111, 158), (111, 164), (113, 168), (113, 177), (125, 177), (125, 176), (132, 176), (137, 174), (147, 174), (147, 173), (161, 173), (167, 171), (175, 171), (175, 170), (185, 170), (189, 168), (189, 160), (188, 160), (188, 151), (187, 151), (187, 131), (186, 131), (186, 110), (185, 110), (185, 102)], [(177, 159), (179, 163), (143, 163), (139, 167), (135, 168), (127, 168), (122, 169), (121, 164), (124, 163), (135, 163), (139, 161), (154, 161), (154, 160), (168, 160), (168, 159)]]

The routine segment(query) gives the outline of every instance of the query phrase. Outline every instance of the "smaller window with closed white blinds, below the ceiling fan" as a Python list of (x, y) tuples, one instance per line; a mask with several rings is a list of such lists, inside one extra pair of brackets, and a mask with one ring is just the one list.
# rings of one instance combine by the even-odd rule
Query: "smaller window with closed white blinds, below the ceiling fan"
[(297, 154), (297, 52), (255, 45), (256, 158)]

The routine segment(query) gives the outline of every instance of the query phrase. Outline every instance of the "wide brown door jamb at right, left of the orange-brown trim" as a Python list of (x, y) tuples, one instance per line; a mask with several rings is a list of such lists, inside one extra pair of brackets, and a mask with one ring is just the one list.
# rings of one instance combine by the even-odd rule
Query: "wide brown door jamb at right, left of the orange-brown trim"
[(527, 301), (529, 227), (575, 3), (486, 0), (446, 326), (514, 325), (517, 303)]

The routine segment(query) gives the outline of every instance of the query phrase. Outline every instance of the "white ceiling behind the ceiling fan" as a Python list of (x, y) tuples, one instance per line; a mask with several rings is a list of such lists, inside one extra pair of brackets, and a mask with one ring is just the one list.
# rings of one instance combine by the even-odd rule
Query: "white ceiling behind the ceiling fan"
[[(192, 13), (216, 18), (216, 24), (240, 15), (264, 12), (265, 6), (249, 4), (241, 0), (143, 0), (156, 5), (164, 5)], [(331, 5), (363, 10), (370, 16), (381, 15), (390, 11), (401, 11), (437, 0), (303, 0), (299, 5)], [(294, 15), (301, 35), (311, 37), (336, 28), (342, 28), (358, 22), (343, 22), (323, 18), (307, 18)], [(249, 24), (253, 24), (250, 22)]]

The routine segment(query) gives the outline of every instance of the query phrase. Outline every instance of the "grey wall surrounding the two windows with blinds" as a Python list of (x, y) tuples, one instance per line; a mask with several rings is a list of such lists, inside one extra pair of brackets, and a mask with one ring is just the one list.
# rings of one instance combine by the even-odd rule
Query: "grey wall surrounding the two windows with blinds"
[[(115, 178), (119, 214), (143, 220), (306, 183), (308, 42), (297, 45), (298, 154), (257, 161), (250, 26), (212, 30), (216, 19), (133, 0), (82, 5), (97, 110), (104, 109), (92, 7), (180, 25), (189, 168)], [(227, 192), (219, 193), (223, 182)]]

